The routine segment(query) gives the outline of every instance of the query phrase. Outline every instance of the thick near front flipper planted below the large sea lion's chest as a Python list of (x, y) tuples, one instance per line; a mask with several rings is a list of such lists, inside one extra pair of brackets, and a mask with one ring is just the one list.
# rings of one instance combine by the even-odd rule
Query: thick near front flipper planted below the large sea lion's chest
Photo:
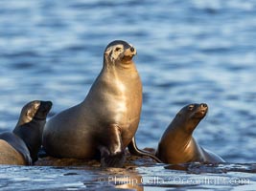
[(110, 125), (106, 134), (103, 135), (104, 138), (101, 138), (104, 140), (104, 144), (98, 147), (101, 152), (102, 167), (123, 167), (125, 152), (119, 127)]

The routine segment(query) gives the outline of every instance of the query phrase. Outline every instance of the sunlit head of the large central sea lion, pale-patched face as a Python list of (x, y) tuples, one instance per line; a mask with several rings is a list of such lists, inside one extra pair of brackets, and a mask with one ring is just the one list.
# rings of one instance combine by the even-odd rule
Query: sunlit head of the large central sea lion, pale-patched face
[(128, 42), (115, 40), (105, 48), (105, 63), (114, 65), (118, 63), (128, 64), (136, 53), (136, 49)]

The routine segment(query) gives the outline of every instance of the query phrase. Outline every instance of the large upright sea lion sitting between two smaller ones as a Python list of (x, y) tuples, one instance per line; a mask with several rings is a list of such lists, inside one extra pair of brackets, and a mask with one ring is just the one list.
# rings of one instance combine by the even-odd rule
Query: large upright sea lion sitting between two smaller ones
[(102, 166), (123, 165), (142, 106), (135, 54), (135, 48), (122, 40), (106, 46), (103, 69), (85, 99), (46, 123), (43, 147), (48, 155), (75, 159), (100, 155)]

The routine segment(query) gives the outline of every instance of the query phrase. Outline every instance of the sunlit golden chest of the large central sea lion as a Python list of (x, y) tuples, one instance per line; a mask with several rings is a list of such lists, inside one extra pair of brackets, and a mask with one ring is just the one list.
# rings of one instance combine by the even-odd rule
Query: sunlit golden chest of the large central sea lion
[[(120, 74), (102, 72), (93, 84), (84, 102), (91, 111), (95, 126), (116, 124), (125, 145), (137, 130), (141, 105), (142, 84), (137, 73)], [(100, 124), (101, 123), (101, 124)], [(103, 124), (105, 123), (105, 124)], [(128, 139), (128, 140), (127, 140)]]

